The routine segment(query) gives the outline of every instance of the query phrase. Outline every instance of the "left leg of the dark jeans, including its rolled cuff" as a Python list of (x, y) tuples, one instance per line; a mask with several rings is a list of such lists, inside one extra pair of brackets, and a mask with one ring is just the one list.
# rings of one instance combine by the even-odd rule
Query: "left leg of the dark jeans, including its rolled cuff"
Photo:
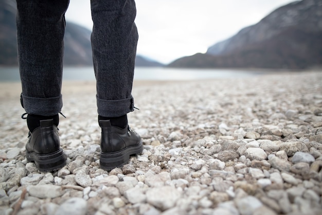
[(28, 114), (61, 111), (65, 1), (17, 0), (17, 45), (22, 101)]

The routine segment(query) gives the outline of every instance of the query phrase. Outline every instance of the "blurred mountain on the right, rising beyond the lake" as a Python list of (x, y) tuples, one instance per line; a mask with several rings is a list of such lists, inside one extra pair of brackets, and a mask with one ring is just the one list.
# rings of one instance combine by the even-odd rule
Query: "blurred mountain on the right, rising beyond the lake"
[(321, 66), (321, 38), (322, 1), (296, 1), (214, 44), (205, 54), (177, 59), (169, 66), (288, 69)]

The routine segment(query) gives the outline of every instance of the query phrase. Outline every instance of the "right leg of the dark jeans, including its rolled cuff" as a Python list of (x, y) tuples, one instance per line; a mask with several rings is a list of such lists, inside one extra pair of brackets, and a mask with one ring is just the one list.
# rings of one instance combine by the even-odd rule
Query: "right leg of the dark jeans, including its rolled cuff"
[(135, 3), (92, 0), (91, 8), (98, 114), (119, 117), (134, 108), (131, 91), (138, 40)]

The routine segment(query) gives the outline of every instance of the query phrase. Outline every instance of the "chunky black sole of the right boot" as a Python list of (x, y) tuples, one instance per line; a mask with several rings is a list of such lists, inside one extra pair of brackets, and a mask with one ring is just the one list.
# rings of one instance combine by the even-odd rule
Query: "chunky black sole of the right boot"
[(140, 154), (142, 153), (142, 151), (143, 151), (143, 145), (141, 140), (139, 145), (128, 147), (118, 152), (113, 152), (113, 153), (100, 152), (99, 163), (100, 163), (101, 169), (112, 170), (116, 167), (123, 166), (124, 164), (129, 162), (131, 155)]

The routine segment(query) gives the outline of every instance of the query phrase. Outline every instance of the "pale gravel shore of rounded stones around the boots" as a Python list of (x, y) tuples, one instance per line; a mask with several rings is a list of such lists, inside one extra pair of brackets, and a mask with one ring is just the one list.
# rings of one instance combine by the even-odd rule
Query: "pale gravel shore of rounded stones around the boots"
[(95, 83), (64, 82), (67, 166), (27, 163), (19, 83), (0, 83), (0, 214), (321, 214), (322, 73), (134, 83), (144, 151), (99, 168)]

